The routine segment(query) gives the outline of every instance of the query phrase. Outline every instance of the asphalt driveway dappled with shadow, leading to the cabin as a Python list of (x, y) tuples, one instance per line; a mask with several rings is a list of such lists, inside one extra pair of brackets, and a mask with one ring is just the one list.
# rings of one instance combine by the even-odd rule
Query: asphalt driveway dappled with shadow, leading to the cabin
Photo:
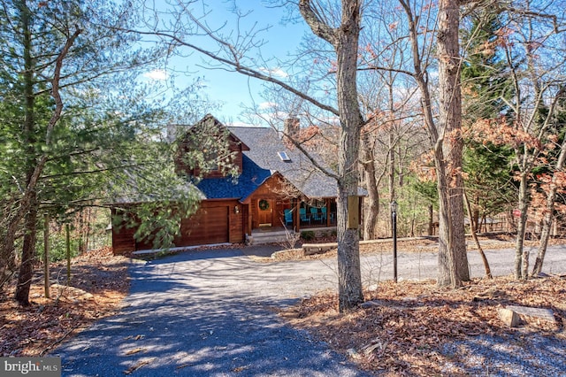
[[(253, 250), (251, 250), (253, 252)], [(256, 250), (261, 253), (262, 250)], [(250, 250), (246, 250), (247, 253)], [(473, 276), (482, 275), (470, 251)], [(487, 251), (494, 274), (512, 270), (513, 251)], [(436, 255), (402, 253), (400, 279), (433, 278)], [(566, 249), (549, 248), (547, 273), (566, 272)], [(392, 258), (362, 258), (364, 283), (390, 279)], [(64, 376), (362, 376), (348, 360), (274, 308), (337, 285), (335, 261), (259, 264), (241, 250), (190, 251), (133, 262), (124, 308), (59, 347)]]

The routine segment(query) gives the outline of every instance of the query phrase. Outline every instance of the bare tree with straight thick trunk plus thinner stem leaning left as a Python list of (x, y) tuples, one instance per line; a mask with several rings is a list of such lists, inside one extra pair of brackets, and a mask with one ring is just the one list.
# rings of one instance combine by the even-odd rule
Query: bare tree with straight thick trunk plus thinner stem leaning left
[[(421, 95), (424, 126), (432, 143), (439, 192), (439, 273), (440, 286), (461, 285), (470, 279), (463, 224), (462, 178), (462, 100), (461, 59), (458, 26), (460, 3), (440, 1), (438, 12), (432, 7), (416, 8), (400, 0), (407, 20), (412, 70), (405, 69), (417, 83)], [(432, 21), (437, 22), (432, 22)], [(432, 36), (436, 36), (436, 42)], [(428, 70), (432, 46), (438, 62), (438, 119), (434, 115), (432, 82)]]

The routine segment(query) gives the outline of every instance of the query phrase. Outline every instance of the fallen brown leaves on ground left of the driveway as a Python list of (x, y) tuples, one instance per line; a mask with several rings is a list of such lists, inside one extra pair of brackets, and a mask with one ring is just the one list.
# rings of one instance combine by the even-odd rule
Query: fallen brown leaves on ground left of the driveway
[(71, 284), (66, 263), (50, 266), (50, 297), (45, 298), (43, 275), (37, 271), (30, 291), (31, 305), (19, 306), (10, 296), (0, 298), (0, 356), (42, 356), (70, 335), (119, 310), (129, 289), (127, 259), (110, 248), (73, 258)]

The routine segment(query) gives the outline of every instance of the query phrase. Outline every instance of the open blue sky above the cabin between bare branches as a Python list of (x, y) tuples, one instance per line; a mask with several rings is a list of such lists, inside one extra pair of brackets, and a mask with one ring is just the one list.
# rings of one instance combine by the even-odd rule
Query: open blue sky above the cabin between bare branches
[[(206, 11), (210, 14), (206, 17), (206, 21), (210, 22), (211, 27), (219, 27), (226, 22), (223, 33), (228, 33), (236, 27), (235, 16), (229, 10), (232, 2), (226, 0), (210, 0), (206, 2)], [(273, 7), (272, 4), (262, 0), (245, 0), (236, 1), (241, 11), (249, 14), (241, 21), (241, 30), (248, 30), (252, 25), (257, 29), (270, 27), (269, 30), (262, 32), (259, 37), (264, 40), (264, 46), (261, 48), (264, 59), (281, 58), (285, 59), (288, 53), (294, 53), (298, 48), (302, 35), (306, 30), (304, 23), (288, 22), (285, 25), (282, 19), (287, 16), (287, 11), (282, 8)], [(197, 8), (196, 12), (201, 11)], [(234, 32), (235, 33), (235, 32)], [(208, 47), (208, 46), (207, 46)], [(187, 50), (186, 50), (187, 52)], [(176, 69), (188, 70), (190, 75), (183, 77), (178, 75), (176, 79), (177, 85), (183, 85), (183, 81), (190, 81), (194, 77), (202, 77), (206, 85), (205, 93), (210, 100), (222, 103), (220, 110), (213, 111), (213, 115), (219, 119), (239, 124), (245, 119), (241, 119), (242, 106), (265, 105), (264, 99), (260, 96), (262, 90), (262, 82), (256, 79), (250, 79), (241, 73), (226, 72), (219, 69), (204, 69), (199, 65), (203, 64), (203, 55), (194, 53), (186, 58), (175, 58), (172, 64)], [(270, 66), (270, 69), (277, 69), (277, 66)], [(164, 79), (166, 76), (163, 72), (148, 73), (149, 77), (154, 80)], [(177, 82), (179, 80), (179, 82)], [(187, 82), (188, 82), (187, 81)]]

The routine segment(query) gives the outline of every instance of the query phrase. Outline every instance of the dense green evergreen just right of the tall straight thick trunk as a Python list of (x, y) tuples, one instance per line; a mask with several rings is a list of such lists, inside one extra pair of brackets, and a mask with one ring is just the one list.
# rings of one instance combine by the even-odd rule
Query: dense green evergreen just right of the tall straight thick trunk
[[(469, 29), (462, 31), (467, 51), (462, 69), (463, 121), (473, 128), (478, 121), (499, 119), (508, 112), (504, 98), (509, 97), (513, 86), (497, 45), (499, 13), (480, 8), (468, 20)], [(472, 207), (470, 220), (476, 227), (480, 216), (500, 213), (513, 200), (511, 157), (512, 150), (505, 146), (477, 138), (466, 140), (463, 170)]]

